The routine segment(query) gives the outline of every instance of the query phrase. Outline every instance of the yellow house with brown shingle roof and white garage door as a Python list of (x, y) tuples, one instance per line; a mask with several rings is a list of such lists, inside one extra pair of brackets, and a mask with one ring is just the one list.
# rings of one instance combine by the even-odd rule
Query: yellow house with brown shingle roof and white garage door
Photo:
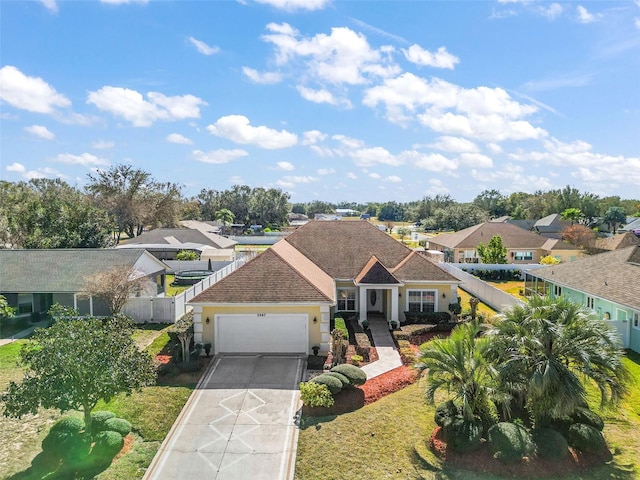
[(447, 312), (459, 284), (369, 222), (312, 221), (189, 304), (195, 341), (216, 353), (308, 354), (328, 351), (336, 311), (360, 322)]

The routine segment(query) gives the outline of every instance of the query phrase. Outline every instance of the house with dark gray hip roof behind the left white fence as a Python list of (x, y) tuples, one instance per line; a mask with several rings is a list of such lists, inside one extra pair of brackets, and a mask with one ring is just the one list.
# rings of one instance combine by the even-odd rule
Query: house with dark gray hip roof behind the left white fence
[(201, 260), (232, 261), (236, 243), (197, 228), (156, 228), (125, 240), (116, 248), (144, 248), (159, 260), (175, 260), (179, 251), (190, 250), (198, 252)]

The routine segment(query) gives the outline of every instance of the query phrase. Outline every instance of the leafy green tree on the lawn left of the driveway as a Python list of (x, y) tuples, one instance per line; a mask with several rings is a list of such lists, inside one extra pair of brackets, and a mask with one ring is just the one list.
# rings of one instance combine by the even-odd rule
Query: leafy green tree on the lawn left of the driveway
[[(65, 315), (77, 315), (66, 310)], [(21, 418), (40, 407), (80, 410), (91, 431), (91, 410), (98, 401), (130, 394), (155, 381), (151, 357), (138, 350), (130, 319), (58, 318), (36, 329), (20, 351), (25, 368), (1, 397), (4, 415)]]

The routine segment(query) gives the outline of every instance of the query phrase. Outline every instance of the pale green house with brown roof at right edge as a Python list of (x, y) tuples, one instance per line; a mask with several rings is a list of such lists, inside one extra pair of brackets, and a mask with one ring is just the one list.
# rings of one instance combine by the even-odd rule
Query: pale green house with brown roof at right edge
[(640, 353), (640, 247), (532, 270), (525, 293), (566, 297), (614, 326), (625, 348)]

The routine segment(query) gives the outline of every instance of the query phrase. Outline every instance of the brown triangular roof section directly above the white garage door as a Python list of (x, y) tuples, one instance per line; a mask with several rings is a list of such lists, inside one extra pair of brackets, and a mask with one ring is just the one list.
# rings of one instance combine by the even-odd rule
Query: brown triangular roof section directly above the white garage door
[[(294, 268), (279, 253), (270, 248), (253, 260), (213, 284), (189, 303), (318, 303), (334, 302), (335, 288), (330, 295), (322, 291), (326, 274)], [(302, 271), (305, 271), (303, 274)], [(307, 278), (305, 274), (311, 278)]]

